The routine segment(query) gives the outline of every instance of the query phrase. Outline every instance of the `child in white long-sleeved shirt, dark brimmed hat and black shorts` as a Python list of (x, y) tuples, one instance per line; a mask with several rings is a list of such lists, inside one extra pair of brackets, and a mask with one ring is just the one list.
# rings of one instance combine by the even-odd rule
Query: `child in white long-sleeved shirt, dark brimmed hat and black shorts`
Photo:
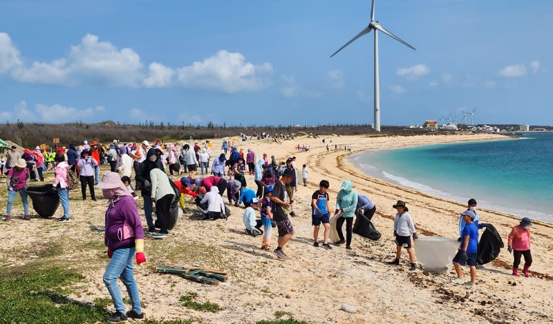
[[(409, 271), (415, 271), (415, 250), (411, 246), (411, 234), (413, 234), (413, 240), (417, 240), (417, 230), (415, 230), (415, 223), (409, 215), (409, 208), (405, 205), (404, 201), (398, 200), (395, 205), (393, 205), (397, 210), (395, 218), (393, 220), (393, 235), (395, 236), (395, 260), (388, 262), (391, 265), (400, 265), (400, 257), (402, 256), (402, 247), (407, 250), (409, 253), (409, 261), (411, 262), (411, 267)], [(475, 259), (476, 260), (476, 259)]]

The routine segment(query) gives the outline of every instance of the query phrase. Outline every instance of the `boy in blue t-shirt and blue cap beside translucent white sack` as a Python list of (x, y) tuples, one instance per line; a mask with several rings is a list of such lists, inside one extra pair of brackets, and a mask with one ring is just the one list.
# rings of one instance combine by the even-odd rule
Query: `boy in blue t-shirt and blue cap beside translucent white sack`
[(461, 216), (466, 225), (462, 229), (459, 251), (453, 258), (453, 267), (457, 273), (457, 278), (453, 279), (453, 283), (463, 283), (461, 265), (469, 265), (471, 281), (465, 282), (465, 285), (474, 287), (476, 285), (476, 254), (478, 252), (478, 226), (474, 223), (476, 214), (472, 210), (465, 210)]

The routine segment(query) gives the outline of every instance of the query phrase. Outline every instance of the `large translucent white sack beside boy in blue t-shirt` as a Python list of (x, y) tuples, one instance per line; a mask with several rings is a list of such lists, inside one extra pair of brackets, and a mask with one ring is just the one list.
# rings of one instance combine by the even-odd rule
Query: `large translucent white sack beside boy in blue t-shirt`
[(449, 237), (428, 236), (415, 241), (417, 260), (425, 269), (436, 274), (451, 267), (458, 249), (459, 242)]

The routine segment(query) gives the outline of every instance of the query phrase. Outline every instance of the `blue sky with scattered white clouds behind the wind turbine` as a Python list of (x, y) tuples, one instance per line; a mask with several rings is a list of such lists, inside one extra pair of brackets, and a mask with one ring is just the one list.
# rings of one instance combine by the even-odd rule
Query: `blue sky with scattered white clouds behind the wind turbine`
[[(0, 2), (0, 122), (373, 123), (369, 0)], [(553, 125), (553, 1), (377, 0), (382, 125)]]

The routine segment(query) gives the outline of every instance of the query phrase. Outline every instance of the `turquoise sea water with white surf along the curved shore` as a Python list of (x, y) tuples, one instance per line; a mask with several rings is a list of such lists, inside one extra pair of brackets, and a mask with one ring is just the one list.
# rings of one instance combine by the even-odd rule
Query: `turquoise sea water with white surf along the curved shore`
[(462, 203), (475, 198), (479, 207), (553, 223), (553, 132), (381, 150), (350, 161), (403, 187)]

